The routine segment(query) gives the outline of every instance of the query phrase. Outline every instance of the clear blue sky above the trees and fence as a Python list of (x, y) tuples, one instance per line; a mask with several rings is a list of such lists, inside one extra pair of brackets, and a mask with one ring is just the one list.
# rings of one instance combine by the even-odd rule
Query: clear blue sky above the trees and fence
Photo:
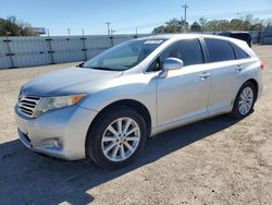
[(71, 35), (81, 35), (83, 28), (85, 35), (104, 35), (106, 22), (116, 34), (135, 34), (136, 27), (138, 33), (150, 33), (181, 19), (185, 3), (189, 23), (200, 16), (231, 19), (250, 12), (272, 17), (272, 0), (0, 0), (0, 17), (15, 15), (34, 27), (49, 28), (50, 35), (67, 35), (67, 28)]

